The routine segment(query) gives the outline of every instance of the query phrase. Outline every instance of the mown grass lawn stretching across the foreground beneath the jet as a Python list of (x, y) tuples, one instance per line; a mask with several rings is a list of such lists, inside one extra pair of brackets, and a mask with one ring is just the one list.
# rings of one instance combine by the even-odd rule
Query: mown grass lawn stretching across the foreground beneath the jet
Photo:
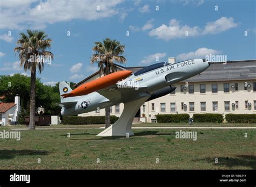
[(21, 141), (0, 139), (1, 169), (256, 169), (254, 129), (197, 130), (197, 141), (176, 139), (179, 129), (133, 130), (130, 138), (101, 131), (21, 131)]

